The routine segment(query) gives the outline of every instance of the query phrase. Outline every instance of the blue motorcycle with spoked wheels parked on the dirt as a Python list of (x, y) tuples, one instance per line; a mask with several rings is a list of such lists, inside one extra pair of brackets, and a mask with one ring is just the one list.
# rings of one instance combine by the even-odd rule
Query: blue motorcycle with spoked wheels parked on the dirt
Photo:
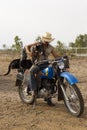
[(63, 100), (69, 112), (79, 117), (84, 111), (84, 100), (77, 86), (78, 79), (67, 71), (67, 59), (62, 57), (40, 63), (43, 75), (41, 86), (37, 88), (36, 96), (32, 96), (28, 75), (23, 68), (17, 74), (17, 86), (21, 100), (26, 104), (33, 104), (35, 98), (55, 98)]

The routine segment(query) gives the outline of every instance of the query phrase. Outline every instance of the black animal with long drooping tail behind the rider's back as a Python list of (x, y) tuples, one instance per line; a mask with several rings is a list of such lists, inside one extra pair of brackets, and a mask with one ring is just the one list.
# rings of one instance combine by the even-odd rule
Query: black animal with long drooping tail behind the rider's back
[(11, 71), (11, 69), (20, 69), (22, 67), (24, 70), (29, 69), (32, 66), (32, 61), (30, 59), (27, 60), (20, 60), (20, 59), (15, 59), (10, 62), (8, 66), (8, 71), (4, 75), (8, 75)]

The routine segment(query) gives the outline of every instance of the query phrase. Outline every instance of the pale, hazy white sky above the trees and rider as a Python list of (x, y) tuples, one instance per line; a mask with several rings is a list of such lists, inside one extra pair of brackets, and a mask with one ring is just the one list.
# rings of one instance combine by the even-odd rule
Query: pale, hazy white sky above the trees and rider
[(15, 36), (25, 46), (45, 32), (55, 38), (52, 45), (87, 34), (87, 0), (0, 0), (0, 49)]

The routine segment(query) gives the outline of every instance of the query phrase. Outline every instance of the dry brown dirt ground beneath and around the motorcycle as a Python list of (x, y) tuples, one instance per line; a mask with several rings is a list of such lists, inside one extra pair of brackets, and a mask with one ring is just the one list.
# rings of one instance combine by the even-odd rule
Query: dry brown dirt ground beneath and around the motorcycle
[(7, 72), (11, 56), (0, 56), (0, 130), (87, 130), (87, 58), (70, 59), (70, 71), (78, 79), (85, 110), (80, 118), (72, 116), (63, 101), (49, 107), (38, 99), (33, 110), (21, 102), (15, 87), (16, 71)]

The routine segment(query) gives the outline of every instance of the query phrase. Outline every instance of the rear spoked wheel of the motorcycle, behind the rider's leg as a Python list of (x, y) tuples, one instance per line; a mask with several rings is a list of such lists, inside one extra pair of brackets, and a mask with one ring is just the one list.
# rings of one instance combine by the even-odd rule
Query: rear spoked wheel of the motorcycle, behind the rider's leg
[(29, 85), (23, 84), (18, 87), (19, 96), (21, 100), (26, 104), (33, 104), (34, 96), (32, 95), (32, 91), (30, 90)]

